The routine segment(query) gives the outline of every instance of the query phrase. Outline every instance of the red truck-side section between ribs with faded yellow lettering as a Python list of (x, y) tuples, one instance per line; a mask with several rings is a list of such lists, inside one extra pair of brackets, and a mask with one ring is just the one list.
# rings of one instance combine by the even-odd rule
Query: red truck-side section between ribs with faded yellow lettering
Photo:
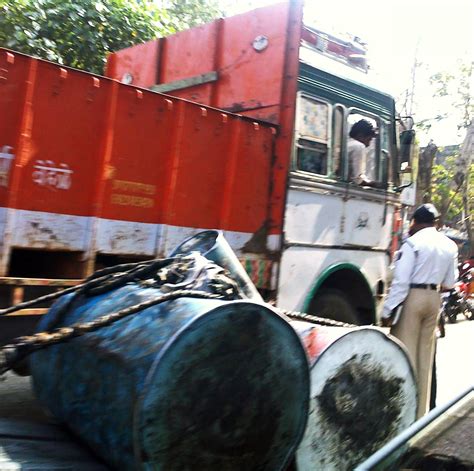
[(163, 95), (117, 84), (100, 217), (161, 222), (176, 113)]

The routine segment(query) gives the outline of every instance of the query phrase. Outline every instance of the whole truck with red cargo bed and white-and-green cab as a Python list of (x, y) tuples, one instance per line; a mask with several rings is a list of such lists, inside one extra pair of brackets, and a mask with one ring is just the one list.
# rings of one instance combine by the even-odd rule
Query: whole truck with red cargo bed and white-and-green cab
[[(2, 306), (220, 229), (266, 299), (374, 322), (413, 194), (395, 187), (415, 165), (393, 98), (365, 84), (363, 46), (302, 11), (118, 51), (106, 77), (0, 49)], [(368, 158), (383, 189), (349, 181), (362, 118), (379, 130)]]

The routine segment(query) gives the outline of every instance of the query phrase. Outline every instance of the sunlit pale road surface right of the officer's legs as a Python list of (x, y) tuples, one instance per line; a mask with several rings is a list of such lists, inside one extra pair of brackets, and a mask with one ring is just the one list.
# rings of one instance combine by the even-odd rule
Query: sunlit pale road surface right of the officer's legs
[(456, 324), (446, 323), (446, 337), (438, 339), (436, 362), (437, 405), (474, 385), (474, 321), (458, 316)]

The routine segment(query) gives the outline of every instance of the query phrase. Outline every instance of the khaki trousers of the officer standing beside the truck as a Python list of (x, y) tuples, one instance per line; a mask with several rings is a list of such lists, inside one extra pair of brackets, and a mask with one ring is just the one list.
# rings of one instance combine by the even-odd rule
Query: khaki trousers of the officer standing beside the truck
[(429, 410), (435, 330), (440, 296), (437, 291), (412, 288), (398, 322), (390, 333), (405, 344), (418, 381), (417, 418)]

